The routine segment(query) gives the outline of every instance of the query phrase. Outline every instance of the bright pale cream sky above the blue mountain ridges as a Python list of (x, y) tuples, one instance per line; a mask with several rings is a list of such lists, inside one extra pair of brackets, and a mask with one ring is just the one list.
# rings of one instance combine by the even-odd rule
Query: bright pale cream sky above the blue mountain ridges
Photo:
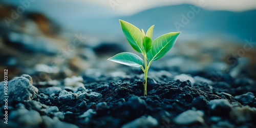
[(199, 6), (200, 2), (205, 3), (203, 8), (210, 10), (244, 11), (256, 9), (255, 0), (87, 0), (84, 2), (106, 6), (124, 15), (132, 15), (146, 9), (167, 5), (193, 4)]

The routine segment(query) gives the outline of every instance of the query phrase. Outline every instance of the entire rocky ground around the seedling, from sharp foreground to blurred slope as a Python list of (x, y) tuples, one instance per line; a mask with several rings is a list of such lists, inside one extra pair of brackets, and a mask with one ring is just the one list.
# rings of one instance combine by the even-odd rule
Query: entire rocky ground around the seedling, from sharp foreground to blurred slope
[(140, 68), (106, 60), (134, 52), (124, 38), (63, 32), (40, 13), (0, 29), (9, 96), (5, 124), (1, 79), (0, 127), (256, 127), (256, 50), (239, 54), (246, 41), (178, 40), (152, 63), (145, 97)]

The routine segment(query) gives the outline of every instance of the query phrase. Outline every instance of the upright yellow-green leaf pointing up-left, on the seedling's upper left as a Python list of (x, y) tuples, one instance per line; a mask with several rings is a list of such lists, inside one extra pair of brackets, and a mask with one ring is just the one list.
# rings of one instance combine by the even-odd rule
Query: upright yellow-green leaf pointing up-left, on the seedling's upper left
[(125, 35), (126, 39), (130, 43), (130, 45), (133, 47), (134, 50), (136, 50), (139, 53), (145, 53), (143, 50), (143, 35), (141, 31), (135, 27), (134, 25), (125, 22), (121, 19), (119, 19), (120, 25), (122, 27), (123, 34)]

